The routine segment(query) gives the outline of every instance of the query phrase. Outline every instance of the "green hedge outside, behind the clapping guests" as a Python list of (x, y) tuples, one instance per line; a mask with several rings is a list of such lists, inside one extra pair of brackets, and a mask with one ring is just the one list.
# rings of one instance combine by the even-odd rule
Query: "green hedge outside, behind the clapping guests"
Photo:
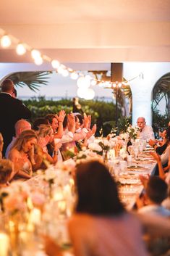
[[(67, 113), (72, 111), (72, 101), (70, 99), (61, 99), (59, 101), (46, 100), (44, 97), (33, 97), (24, 101), (25, 105), (32, 112), (32, 122), (37, 117), (43, 117), (48, 113), (58, 113), (60, 110), (65, 110)], [(92, 125), (97, 124), (98, 130), (96, 135), (99, 136), (99, 131), (103, 128), (104, 136), (110, 133), (111, 128), (115, 124), (115, 105), (112, 102), (102, 101), (85, 101), (80, 100), (83, 112), (86, 115), (91, 115)], [(121, 111), (119, 111), (121, 116)]]

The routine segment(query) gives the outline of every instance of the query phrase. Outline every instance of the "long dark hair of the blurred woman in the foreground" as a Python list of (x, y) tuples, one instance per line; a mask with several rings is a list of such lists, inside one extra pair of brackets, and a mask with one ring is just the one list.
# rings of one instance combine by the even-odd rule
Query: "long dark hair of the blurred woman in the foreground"
[(90, 215), (119, 215), (124, 212), (114, 178), (98, 161), (80, 163), (76, 169), (77, 212)]

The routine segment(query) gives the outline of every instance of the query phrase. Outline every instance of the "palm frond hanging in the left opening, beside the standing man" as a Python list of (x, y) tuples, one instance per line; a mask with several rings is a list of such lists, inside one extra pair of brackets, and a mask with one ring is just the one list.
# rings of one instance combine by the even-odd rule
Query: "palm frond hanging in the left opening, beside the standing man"
[(17, 72), (9, 75), (9, 79), (14, 82), (15, 86), (27, 86), (31, 91), (39, 91), (42, 85), (48, 84), (48, 75), (51, 72)]

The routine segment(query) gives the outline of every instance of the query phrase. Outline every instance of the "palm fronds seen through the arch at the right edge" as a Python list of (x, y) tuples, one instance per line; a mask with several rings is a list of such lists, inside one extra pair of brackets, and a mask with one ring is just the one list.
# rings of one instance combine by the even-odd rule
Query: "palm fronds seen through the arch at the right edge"
[(161, 99), (166, 101), (166, 116), (170, 119), (170, 73), (163, 75), (153, 88), (153, 112)]

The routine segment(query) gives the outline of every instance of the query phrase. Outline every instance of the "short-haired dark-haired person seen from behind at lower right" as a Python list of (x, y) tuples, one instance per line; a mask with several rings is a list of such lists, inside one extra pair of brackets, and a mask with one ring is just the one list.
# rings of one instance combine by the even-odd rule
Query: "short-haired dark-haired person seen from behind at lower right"
[[(168, 196), (168, 186), (163, 179), (158, 176), (151, 176), (145, 188), (145, 206), (141, 207), (138, 212), (149, 215), (170, 216), (170, 211), (161, 205)], [(140, 201), (137, 202), (140, 206)]]

